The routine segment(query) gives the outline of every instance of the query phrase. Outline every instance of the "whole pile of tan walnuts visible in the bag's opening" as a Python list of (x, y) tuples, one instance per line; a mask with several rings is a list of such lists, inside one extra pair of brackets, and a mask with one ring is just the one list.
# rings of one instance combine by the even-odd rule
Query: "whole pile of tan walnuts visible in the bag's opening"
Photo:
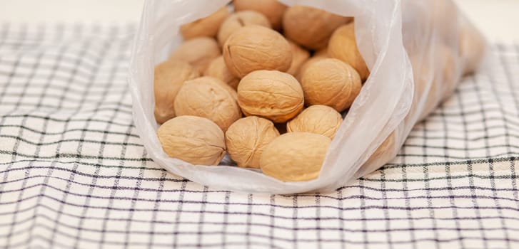
[(369, 75), (353, 18), (275, 0), (233, 5), (181, 26), (185, 41), (155, 68), (163, 150), (200, 165), (228, 152), (281, 181), (316, 179)]

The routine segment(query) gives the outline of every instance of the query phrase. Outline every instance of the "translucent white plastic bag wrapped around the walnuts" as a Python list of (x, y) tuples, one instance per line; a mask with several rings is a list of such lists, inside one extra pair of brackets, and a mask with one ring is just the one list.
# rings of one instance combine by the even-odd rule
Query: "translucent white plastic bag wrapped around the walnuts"
[[(333, 191), (395, 157), (416, 122), (474, 70), (485, 41), (451, 0), (281, 0), (355, 17), (358, 48), (371, 75), (333, 139), (318, 179), (283, 182), (236, 166), (193, 166), (169, 158), (156, 137), (153, 68), (181, 42), (183, 23), (228, 0), (146, 1), (133, 45), (133, 120), (150, 157), (165, 169), (218, 189), (294, 194)], [(379, 149), (377, 149), (380, 146)]]

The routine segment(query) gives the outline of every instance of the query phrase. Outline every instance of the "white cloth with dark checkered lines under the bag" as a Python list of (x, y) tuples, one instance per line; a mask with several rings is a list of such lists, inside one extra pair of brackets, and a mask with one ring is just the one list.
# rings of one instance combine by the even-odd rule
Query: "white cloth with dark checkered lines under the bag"
[(239, 194), (146, 155), (133, 26), (0, 27), (1, 248), (519, 248), (519, 46), (330, 194)]

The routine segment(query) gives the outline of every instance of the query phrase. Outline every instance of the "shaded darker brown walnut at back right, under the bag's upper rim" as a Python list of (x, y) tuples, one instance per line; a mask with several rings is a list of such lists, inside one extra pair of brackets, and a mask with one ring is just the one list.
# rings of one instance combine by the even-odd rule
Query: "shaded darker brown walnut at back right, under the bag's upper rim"
[(348, 23), (351, 17), (338, 16), (322, 9), (308, 6), (291, 6), (283, 15), (283, 32), (286, 38), (303, 47), (318, 50), (328, 46), (333, 31)]

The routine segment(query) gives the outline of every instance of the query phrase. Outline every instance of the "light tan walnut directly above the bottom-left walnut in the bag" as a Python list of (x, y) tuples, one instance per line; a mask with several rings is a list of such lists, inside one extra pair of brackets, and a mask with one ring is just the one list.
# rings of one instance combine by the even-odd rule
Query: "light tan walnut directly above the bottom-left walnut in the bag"
[(183, 83), (174, 103), (175, 113), (205, 117), (223, 132), (241, 117), (236, 91), (217, 78), (201, 77)]

